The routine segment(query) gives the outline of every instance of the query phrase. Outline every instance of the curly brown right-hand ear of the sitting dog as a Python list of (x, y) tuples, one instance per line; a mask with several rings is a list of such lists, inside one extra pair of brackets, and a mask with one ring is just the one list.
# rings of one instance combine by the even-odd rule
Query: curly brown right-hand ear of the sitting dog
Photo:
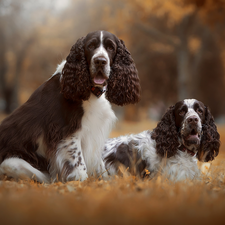
[(124, 42), (118, 40), (117, 53), (108, 79), (106, 98), (116, 105), (137, 103), (140, 99), (138, 71)]

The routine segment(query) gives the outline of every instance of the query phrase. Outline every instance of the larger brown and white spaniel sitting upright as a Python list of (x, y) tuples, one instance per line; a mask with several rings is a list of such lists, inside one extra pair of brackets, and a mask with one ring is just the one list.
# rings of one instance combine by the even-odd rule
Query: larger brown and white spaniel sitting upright
[(109, 102), (139, 97), (122, 40), (107, 31), (78, 39), (53, 76), (0, 125), (0, 175), (39, 182), (106, 175), (101, 156), (116, 120)]

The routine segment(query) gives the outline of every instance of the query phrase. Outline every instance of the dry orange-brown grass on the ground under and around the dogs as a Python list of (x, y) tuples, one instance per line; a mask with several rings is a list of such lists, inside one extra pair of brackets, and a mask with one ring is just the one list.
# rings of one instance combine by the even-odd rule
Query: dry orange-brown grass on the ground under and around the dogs
[[(112, 136), (154, 126), (120, 122)], [(219, 131), (225, 143), (225, 127)], [(140, 180), (126, 173), (66, 184), (0, 181), (0, 224), (224, 224), (224, 148), (201, 182)]]

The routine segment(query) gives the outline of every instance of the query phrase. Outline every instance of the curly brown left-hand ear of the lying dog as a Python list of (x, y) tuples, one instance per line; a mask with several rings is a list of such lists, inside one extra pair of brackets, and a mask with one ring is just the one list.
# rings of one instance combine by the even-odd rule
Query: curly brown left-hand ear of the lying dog
[(171, 157), (177, 153), (179, 147), (178, 131), (175, 125), (174, 106), (170, 106), (151, 137), (156, 141), (156, 152), (162, 157)]

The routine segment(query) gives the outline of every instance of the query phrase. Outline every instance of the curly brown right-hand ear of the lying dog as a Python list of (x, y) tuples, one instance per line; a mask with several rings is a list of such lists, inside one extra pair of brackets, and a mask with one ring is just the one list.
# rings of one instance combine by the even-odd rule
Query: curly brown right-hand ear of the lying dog
[(202, 131), (201, 146), (197, 158), (204, 162), (212, 161), (219, 153), (220, 135), (207, 106), (205, 107), (205, 123), (202, 125)]

